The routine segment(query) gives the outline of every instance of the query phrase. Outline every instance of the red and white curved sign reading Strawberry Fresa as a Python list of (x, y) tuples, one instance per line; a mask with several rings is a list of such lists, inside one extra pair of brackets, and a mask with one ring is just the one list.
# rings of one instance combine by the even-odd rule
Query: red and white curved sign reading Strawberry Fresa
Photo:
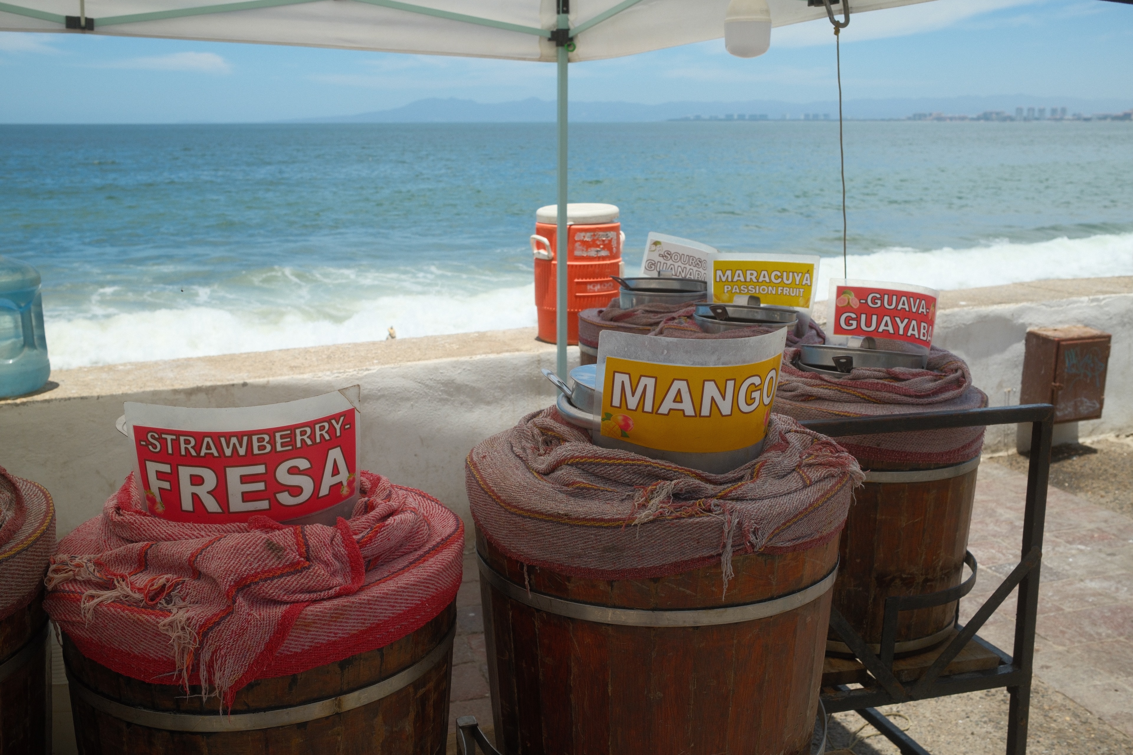
[(235, 409), (128, 402), (125, 419), (154, 516), (333, 524), (357, 500), (358, 410), (342, 392)]

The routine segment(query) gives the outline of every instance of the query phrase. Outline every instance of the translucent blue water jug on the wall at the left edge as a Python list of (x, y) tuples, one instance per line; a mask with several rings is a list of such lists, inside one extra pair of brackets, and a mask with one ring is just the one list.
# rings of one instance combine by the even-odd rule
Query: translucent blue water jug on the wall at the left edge
[(0, 398), (36, 391), (50, 375), (40, 272), (0, 257)]

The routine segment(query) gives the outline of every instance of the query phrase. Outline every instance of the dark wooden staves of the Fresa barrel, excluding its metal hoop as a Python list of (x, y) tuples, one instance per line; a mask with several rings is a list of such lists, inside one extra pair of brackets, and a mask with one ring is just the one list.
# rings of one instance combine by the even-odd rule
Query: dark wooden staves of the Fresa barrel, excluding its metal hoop
[[(455, 621), (450, 604), (416, 631), (385, 647), (359, 653), (300, 673), (249, 682), (236, 694), (232, 713), (303, 705), (373, 685), (424, 658), (444, 641)], [(218, 714), (215, 698), (186, 696), (173, 685), (134, 679), (82, 655), (63, 637), (63, 656), (74, 677), (126, 705), (155, 711)], [(75, 735), (83, 755), (155, 753), (169, 755), (440, 755), (449, 728), (452, 653), (402, 689), (335, 715), (253, 731), (165, 731), (128, 723), (94, 710), (71, 689)]]

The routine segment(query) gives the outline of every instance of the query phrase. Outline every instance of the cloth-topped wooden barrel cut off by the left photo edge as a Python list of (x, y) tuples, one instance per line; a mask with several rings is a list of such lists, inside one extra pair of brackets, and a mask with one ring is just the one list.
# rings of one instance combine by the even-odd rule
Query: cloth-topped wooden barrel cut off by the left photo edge
[(51, 495), (0, 468), (0, 755), (51, 753), (43, 574), (54, 545)]

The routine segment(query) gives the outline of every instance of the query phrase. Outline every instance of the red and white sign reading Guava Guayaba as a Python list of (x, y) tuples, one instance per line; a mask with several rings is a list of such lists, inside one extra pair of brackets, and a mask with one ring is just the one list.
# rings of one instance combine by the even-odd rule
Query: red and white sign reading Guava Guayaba
[(938, 291), (901, 283), (832, 281), (834, 336), (932, 345)]

